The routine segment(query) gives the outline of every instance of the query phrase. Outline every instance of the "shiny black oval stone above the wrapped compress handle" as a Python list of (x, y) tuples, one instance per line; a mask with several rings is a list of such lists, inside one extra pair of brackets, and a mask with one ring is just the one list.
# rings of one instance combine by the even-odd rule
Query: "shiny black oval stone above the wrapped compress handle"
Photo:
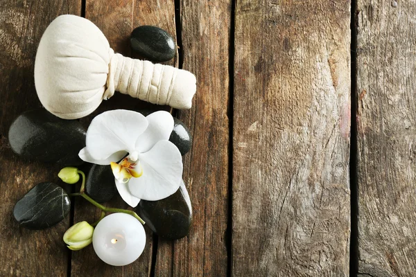
[(140, 26), (130, 36), (132, 50), (153, 62), (166, 62), (175, 57), (176, 45), (166, 30), (155, 26)]

